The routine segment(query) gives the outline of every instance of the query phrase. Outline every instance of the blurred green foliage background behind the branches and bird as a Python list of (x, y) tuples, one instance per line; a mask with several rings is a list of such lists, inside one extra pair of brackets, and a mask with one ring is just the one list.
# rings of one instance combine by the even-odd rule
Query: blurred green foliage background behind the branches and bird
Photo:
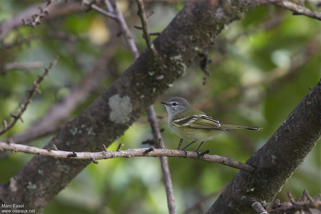
[[(2, 1), (0, 22), (10, 19), (37, 1)], [(120, 1), (118, 6), (128, 21), (140, 52), (145, 48), (136, 15), (135, 2)], [(52, 3), (52, 4), (55, 4)], [(182, 1), (148, 1), (146, 12), (155, 13), (149, 18), (151, 32), (162, 31), (183, 8)], [(319, 10), (313, 1), (307, 7)], [(4, 39), (0, 48), (0, 64), (42, 61), (48, 67), (58, 55), (56, 67), (41, 83), (41, 95), (36, 95), (20, 121), (1, 140), (25, 131), (44, 117), (50, 107), (62, 102), (71, 89), (82, 81), (108, 46), (113, 52), (98, 87), (73, 110), (78, 115), (133, 62), (123, 38), (112, 36), (119, 32), (114, 21), (96, 11), (69, 13), (43, 21), (35, 29), (22, 26)], [(203, 144), (201, 150), (245, 162), (282, 124), (292, 109), (314, 87), (320, 78), (320, 22), (305, 16), (292, 16), (290, 11), (273, 5), (253, 8), (244, 19), (234, 21), (209, 46), (211, 76), (203, 85), (205, 74), (200, 59), (182, 78), (172, 84), (154, 104), (161, 117), (160, 127), (166, 148), (176, 149), (179, 137), (167, 127), (167, 113), (159, 101), (179, 96), (193, 107), (213, 116), (222, 123), (263, 127), (263, 131), (236, 130), (221, 133)], [(5, 48), (20, 38), (43, 36), (52, 32), (65, 32), (78, 39), (32, 39), (30, 43)], [(1, 47), (0, 46), (0, 47)], [(3, 71), (0, 76), (0, 118), (10, 121), (9, 113), (16, 112), (43, 68)], [(33, 140), (30, 145), (42, 147), (54, 134)], [(135, 122), (108, 150), (145, 148), (143, 141), (152, 138), (146, 115)], [(103, 143), (103, 142), (102, 142)], [(184, 145), (187, 141), (184, 141)], [(195, 150), (193, 145), (189, 150)], [(303, 164), (293, 173), (276, 198), (288, 201), (302, 196), (307, 189), (311, 196), (320, 193), (320, 141)], [(7, 182), (33, 155), (12, 153), (0, 159), (0, 182)], [(168, 158), (178, 213), (204, 199), (200, 206), (188, 213), (206, 211), (219, 196), (237, 170), (216, 163), (185, 158)], [(167, 213), (166, 193), (162, 184), (159, 158), (116, 158), (89, 164), (54, 200), (44, 213)]]

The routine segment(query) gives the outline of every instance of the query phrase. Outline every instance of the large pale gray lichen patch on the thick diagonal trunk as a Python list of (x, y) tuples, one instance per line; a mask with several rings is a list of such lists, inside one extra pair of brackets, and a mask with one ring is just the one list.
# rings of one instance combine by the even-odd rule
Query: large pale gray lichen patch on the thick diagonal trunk
[(118, 124), (125, 124), (129, 121), (129, 114), (132, 112), (133, 106), (128, 96), (121, 98), (116, 94), (109, 98), (108, 104), (111, 109), (109, 114), (111, 121)]

